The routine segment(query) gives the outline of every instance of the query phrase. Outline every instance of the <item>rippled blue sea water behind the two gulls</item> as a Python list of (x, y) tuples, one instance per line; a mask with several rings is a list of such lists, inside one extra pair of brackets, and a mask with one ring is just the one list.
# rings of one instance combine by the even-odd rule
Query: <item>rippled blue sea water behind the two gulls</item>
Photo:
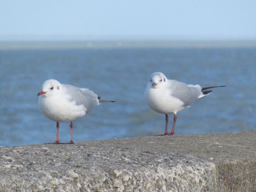
[[(74, 120), (75, 142), (163, 134), (165, 116), (143, 98), (156, 71), (187, 84), (227, 86), (179, 112), (175, 134), (256, 130), (255, 47), (2, 48), (0, 66), (1, 146), (55, 141), (56, 122), (39, 111), (36, 96), (51, 78), (116, 101)], [(69, 122), (60, 123), (59, 137), (70, 140)]]

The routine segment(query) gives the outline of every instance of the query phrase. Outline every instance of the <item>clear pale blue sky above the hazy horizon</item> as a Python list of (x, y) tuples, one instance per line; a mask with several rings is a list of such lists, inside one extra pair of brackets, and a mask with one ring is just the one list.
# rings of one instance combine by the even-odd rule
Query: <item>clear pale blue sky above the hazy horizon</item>
[(12, 40), (256, 40), (256, 1), (1, 0)]

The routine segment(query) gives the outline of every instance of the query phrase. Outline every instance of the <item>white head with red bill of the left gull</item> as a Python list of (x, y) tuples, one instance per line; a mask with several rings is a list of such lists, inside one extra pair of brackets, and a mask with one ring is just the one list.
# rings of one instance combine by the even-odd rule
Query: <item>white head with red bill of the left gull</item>
[(51, 97), (60, 92), (61, 84), (57, 80), (49, 79), (44, 82), (42, 88), (43, 88), (43, 90), (40, 91), (37, 94), (37, 96), (43, 95), (45, 97)]

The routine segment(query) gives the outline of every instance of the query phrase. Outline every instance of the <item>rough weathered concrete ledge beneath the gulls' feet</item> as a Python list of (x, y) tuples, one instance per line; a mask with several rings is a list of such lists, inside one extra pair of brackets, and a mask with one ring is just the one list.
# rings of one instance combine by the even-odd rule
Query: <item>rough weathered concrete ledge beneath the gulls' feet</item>
[(256, 132), (0, 148), (0, 191), (256, 191)]

